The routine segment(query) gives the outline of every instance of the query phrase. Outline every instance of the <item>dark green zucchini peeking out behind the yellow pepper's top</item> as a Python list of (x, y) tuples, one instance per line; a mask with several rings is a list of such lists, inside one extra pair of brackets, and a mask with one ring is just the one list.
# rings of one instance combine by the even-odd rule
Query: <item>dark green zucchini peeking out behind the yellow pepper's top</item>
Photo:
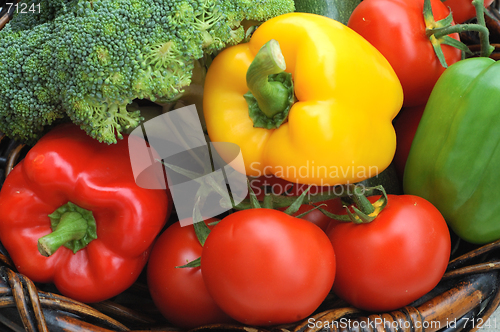
[(332, 18), (346, 24), (361, 0), (295, 0), (295, 11)]

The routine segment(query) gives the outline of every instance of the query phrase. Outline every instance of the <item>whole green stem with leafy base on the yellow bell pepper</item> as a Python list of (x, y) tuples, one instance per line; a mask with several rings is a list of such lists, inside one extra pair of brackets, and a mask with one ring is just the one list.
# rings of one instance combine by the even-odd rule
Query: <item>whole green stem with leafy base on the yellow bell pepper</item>
[(272, 39), (259, 50), (246, 74), (245, 99), (255, 127), (277, 128), (294, 102), (293, 83), (286, 73), (279, 43)]

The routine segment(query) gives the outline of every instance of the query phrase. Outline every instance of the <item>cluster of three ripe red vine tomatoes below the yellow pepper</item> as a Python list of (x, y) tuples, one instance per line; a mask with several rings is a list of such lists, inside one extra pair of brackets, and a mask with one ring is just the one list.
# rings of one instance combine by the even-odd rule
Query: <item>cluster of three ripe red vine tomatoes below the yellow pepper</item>
[[(288, 185), (274, 182), (282, 194)], [(300, 193), (296, 188), (288, 194)], [(328, 202), (326, 214), (346, 214), (340, 198)], [(184, 328), (267, 326), (305, 319), (331, 292), (360, 309), (395, 310), (429, 292), (444, 274), (450, 233), (439, 211), (420, 197), (388, 195), (375, 220), (362, 224), (316, 211), (327, 221), (323, 229), (314, 218), (264, 208), (209, 219), (203, 246), (192, 225), (173, 224), (149, 260), (153, 300)], [(181, 267), (197, 258), (199, 266)]]

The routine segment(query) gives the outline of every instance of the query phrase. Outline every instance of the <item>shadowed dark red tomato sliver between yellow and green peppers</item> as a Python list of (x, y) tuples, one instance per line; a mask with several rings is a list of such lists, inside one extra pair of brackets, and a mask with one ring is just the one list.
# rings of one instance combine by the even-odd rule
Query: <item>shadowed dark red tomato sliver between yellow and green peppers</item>
[(403, 173), (406, 159), (410, 153), (413, 137), (417, 132), (418, 124), (424, 114), (425, 104), (415, 107), (404, 107), (394, 121), (396, 130), (396, 153), (394, 154), (394, 168), (399, 180), (403, 183)]

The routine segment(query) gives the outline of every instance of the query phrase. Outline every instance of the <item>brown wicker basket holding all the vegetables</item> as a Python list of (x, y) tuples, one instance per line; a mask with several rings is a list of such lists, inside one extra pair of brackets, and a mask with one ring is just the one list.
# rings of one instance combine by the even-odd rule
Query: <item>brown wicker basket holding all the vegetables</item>
[[(487, 18), (491, 56), (500, 59), (498, 1), (491, 7), (497, 19)], [(0, 29), (9, 13), (0, 12)], [(475, 35), (462, 35), (471, 50)], [(498, 43), (498, 44), (495, 44)], [(0, 185), (29, 147), (0, 133)], [(175, 214), (171, 217), (175, 220)], [(452, 236), (453, 253), (442, 281), (409, 306), (387, 313), (369, 313), (350, 307), (331, 294), (309, 318), (296, 324), (258, 328), (212, 325), (192, 331), (476, 331), (500, 330), (489, 321), (500, 304), (500, 241), (478, 247)], [(108, 301), (83, 304), (58, 294), (51, 284), (34, 284), (16, 272), (0, 244), (0, 331), (180, 331), (169, 326), (153, 304), (144, 273), (122, 294)], [(481, 325), (481, 324), (484, 325)], [(489, 325), (490, 327), (486, 327)]]

